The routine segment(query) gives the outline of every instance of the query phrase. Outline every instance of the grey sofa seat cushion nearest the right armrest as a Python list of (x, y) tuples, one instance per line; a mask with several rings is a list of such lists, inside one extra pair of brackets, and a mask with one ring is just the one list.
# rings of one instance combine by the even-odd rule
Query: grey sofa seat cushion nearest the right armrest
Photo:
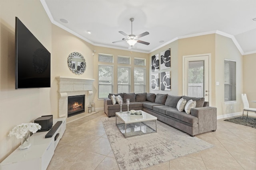
[(166, 115), (173, 117), (175, 119), (178, 119), (180, 121), (184, 121), (186, 123), (189, 123), (191, 125), (195, 125), (198, 123), (198, 118), (195, 116), (192, 116), (190, 114), (185, 113), (184, 111), (180, 112), (177, 109), (169, 109), (166, 110)]

